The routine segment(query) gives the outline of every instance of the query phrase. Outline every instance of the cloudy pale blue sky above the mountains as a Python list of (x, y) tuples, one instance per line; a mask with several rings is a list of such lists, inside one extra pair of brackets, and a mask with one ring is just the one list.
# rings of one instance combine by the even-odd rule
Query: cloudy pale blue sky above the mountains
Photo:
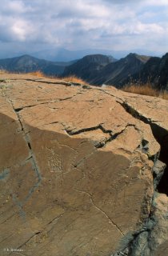
[(67, 50), (168, 52), (168, 0), (0, 0), (0, 56)]

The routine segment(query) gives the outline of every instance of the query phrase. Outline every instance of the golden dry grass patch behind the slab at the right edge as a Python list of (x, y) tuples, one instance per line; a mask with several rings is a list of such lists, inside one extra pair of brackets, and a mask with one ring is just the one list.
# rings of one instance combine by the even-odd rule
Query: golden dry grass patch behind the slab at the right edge
[(159, 91), (154, 89), (149, 82), (146, 84), (130, 84), (123, 87), (124, 91), (132, 93), (132, 94), (142, 94), (153, 97), (159, 97), (168, 100), (168, 92), (166, 90)]

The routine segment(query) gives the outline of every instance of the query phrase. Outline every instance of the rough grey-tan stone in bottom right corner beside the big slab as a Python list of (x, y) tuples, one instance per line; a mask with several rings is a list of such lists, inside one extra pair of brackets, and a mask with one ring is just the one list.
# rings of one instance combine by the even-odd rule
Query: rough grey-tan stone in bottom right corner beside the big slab
[(144, 226), (144, 231), (135, 238), (131, 255), (152, 256), (167, 253), (167, 214), (168, 198), (165, 194), (155, 193), (150, 218)]

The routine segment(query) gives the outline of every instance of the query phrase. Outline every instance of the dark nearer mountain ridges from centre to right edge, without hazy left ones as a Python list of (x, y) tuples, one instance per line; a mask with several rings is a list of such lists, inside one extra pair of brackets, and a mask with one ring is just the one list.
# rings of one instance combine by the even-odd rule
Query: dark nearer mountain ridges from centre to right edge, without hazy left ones
[(92, 56), (66, 66), (62, 75), (76, 75), (97, 86), (106, 84), (122, 88), (130, 82), (150, 82), (158, 89), (168, 90), (168, 54), (162, 58), (128, 54), (118, 61), (113, 58), (103, 66), (100, 61), (93, 63)]

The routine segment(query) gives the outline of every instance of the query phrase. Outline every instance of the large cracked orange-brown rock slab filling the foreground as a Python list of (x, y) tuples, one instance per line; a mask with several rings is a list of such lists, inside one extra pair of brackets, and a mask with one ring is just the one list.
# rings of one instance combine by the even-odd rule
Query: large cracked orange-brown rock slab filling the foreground
[(33, 76), (1, 81), (2, 253), (133, 256), (143, 243), (153, 255), (167, 199), (162, 209), (154, 192), (165, 165), (151, 123), (167, 130), (167, 102)]

